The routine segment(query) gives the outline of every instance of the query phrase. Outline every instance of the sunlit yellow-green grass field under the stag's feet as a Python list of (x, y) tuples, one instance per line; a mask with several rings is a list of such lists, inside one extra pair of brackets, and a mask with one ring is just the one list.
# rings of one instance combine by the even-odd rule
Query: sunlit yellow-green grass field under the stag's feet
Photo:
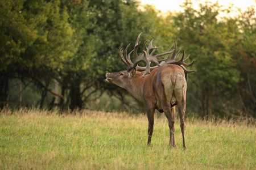
[(187, 120), (187, 150), (176, 122), (168, 147), (164, 116), (147, 147), (146, 115), (39, 110), (0, 113), (0, 169), (256, 169), (255, 126)]

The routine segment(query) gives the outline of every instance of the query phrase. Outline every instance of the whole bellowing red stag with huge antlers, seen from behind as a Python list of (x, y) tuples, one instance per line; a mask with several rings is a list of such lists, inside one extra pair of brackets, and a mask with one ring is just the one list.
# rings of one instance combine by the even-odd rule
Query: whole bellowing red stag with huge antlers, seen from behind
[[(175, 106), (179, 109), (180, 128), (183, 138), (183, 148), (185, 145), (185, 110), (186, 110), (186, 91), (187, 91), (187, 74), (195, 70), (187, 70), (185, 66), (192, 66), (195, 61), (185, 63), (190, 55), (184, 59), (185, 52), (180, 48), (177, 52), (177, 39), (172, 44), (167, 52), (155, 54), (154, 52), (159, 47), (152, 46), (153, 40), (147, 46), (147, 40), (144, 41), (143, 53), (138, 55), (138, 46), (141, 34), (139, 34), (135, 41), (134, 49), (127, 54), (130, 46), (127, 45), (125, 52), (123, 49), (119, 51), (119, 57), (127, 66), (126, 70), (117, 73), (106, 73), (106, 81), (116, 84), (119, 87), (127, 90), (139, 101), (146, 103), (147, 119), (148, 119), (148, 140), (147, 145), (151, 146), (151, 138), (154, 131), (155, 109), (159, 112), (164, 112), (170, 129), (171, 148), (175, 145)], [(172, 47), (174, 48), (172, 49)], [(179, 60), (176, 58), (180, 52), (183, 52)], [(133, 53), (133, 62), (131, 61), (131, 54)], [(168, 55), (172, 56), (168, 59)], [(161, 56), (165, 56), (164, 58)], [(163, 59), (159, 59), (159, 57)], [(139, 66), (140, 62), (146, 63), (146, 66)], [(151, 62), (155, 66), (151, 66)]]

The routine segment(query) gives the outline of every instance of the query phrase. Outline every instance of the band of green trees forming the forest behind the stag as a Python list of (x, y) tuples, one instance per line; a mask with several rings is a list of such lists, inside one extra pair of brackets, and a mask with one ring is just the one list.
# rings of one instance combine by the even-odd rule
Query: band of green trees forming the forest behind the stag
[[(158, 53), (191, 54), (187, 114), (256, 117), (256, 15), (191, 1), (162, 14), (135, 0), (0, 1), (0, 108), (105, 109), (144, 112), (105, 74), (125, 70), (119, 49), (139, 33)], [(220, 16), (220, 14), (225, 14)], [(141, 45), (142, 51), (142, 45)]]

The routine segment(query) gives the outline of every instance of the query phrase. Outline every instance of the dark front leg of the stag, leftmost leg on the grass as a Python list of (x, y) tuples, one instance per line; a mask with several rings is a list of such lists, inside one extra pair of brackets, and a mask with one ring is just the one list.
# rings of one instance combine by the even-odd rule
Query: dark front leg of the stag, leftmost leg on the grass
[(155, 108), (147, 107), (147, 119), (148, 119), (148, 139), (147, 146), (151, 146), (151, 138), (154, 131), (154, 121), (155, 121)]

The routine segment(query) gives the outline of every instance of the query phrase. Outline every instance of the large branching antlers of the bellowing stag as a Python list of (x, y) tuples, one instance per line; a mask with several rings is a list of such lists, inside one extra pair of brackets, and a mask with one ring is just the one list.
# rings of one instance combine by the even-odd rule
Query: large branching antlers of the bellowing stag
[[(138, 51), (139, 44), (141, 44), (141, 41), (139, 41), (139, 38), (141, 37), (141, 34), (142, 33), (139, 34), (139, 36), (138, 36), (138, 38), (135, 42), (134, 49), (131, 50), (131, 52), (128, 55), (127, 55), (127, 49), (129, 48), (130, 44), (127, 45), (126, 48), (125, 48), (125, 57), (123, 56), (123, 50), (122, 49), (120, 50), (120, 58), (121, 58), (122, 62), (125, 63), (125, 65), (127, 66), (127, 71), (130, 71), (132, 69), (136, 69), (138, 71), (144, 71), (144, 73), (142, 75), (142, 76), (144, 76), (146, 74), (150, 74), (151, 70), (153, 70), (156, 67), (159, 67), (161, 65), (175, 64), (175, 65), (179, 65), (183, 68), (186, 79), (187, 79), (187, 74), (188, 73), (192, 73), (193, 71), (195, 71), (195, 70), (185, 69), (184, 66), (192, 66), (195, 61), (193, 61), (191, 63), (185, 63), (185, 61), (187, 61), (187, 59), (189, 58), (190, 55), (187, 58), (184, 59), (185, 52), (184, 52), (183, 48), (181, 48), (176, 53), (176, 51), (177, 51), (177, 39), (175, 40), (175, 43), (172, 44), (172, 46), (174, 46), (174, 49), (172, 49), (172, 46), (171, 46), (170, 49), (168, 50), (168, 52), (156, 54), (154, 56), (153, 56), (153, 53), (155, 52), (156, 49), (158, 49), (158, 47), (152, 46), (152, 42), (153, 42), (154, 39), (150, 41), (150, 44), (148, 46), (146, 45), (146, 42), (147, 42), (147, 40), (146, 40), (144, 42), (143, 54), (139, 54), (139, 56), (138, 56), (137, 51)], [(152, 50), (151, 53), (150, 53), (150, 50)], [(181, 50), (183, 51), (183, 55), (179, 60), (176, 61), (175, 59), (179, 56)], [(131, 53), (133, 53), (134, 62), (131, 62), (131, 59), (130, 59)], [(168, 54), (170, 54), (170, 53), (172, 53), (172, 56), (171, 56), (170, 59), (168, 59), (168, 61), (166, 61), (167, 58), (168, 58)], [(164, 57), (164, 59), (158, 59), (159, 57), (164, 56), (164, 55), (166, 55), (166, 57)], [(141, 61), (144, 61), (146, 63), (146, 67), (138, 66), (138, 63), (141, 62)], [(156, 64), (156, 66), (150, 67), (151, 62), (154, 62)]]

